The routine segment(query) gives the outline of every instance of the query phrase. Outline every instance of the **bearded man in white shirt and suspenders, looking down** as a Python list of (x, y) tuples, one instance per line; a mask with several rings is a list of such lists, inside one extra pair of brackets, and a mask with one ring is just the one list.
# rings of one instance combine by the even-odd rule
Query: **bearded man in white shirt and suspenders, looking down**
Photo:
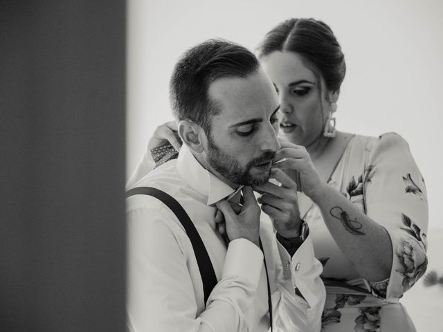
[[(273, 331), (320, 331), (325, 288), (309, 234), (293, 244), (300, 225), (287, 220), (274, 225), (280, 243), (251, 188), (279, 178), (271, 168), (280, 149), (271, 81), (246, 48), (210, 40), (183, 55), (170, 88), (183, 147), (131, 187), (154, 187), (180, 203), (217, 284), (205, 303), (196, 255), (177, 216), (152, 196), (130, 196), (129, 330), (264, 332), (272, 324)], [(217, 231), (217, 209), (228, 241)]]

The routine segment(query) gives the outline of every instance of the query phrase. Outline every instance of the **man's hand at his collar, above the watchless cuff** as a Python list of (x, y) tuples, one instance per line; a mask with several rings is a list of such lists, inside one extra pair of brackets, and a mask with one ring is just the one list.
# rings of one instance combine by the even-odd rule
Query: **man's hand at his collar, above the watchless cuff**
[[(260, 207), (255, 200), (251, 187), (243, 187), (242, 193), (244, 204), (242, 208), (239, 209), (239, 212), (235, 212), (237, 209), (233, 208), (226, 200), (219, 201), (216, 205), (224, 215), (225, 231), (231, 241), (235, 239), (247, 239), (258, 246), (260, 236)], [(218, 219), (220, 219), (220, 216), (218, 216)]]

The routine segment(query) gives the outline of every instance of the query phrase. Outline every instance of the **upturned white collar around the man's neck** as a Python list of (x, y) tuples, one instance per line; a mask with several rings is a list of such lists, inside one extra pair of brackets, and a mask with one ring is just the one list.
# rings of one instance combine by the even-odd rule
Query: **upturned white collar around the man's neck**
[(181, 146), (179, 158), (177, 158), (177, 170), (192, 189), (207, 197), (206, 205), (212, 205), (226, 196), (230, 199), (243, 187), (240, 185), (235, 190), (221, 181), (208, 169), (201, 166), (189, 147), (184, 144)]

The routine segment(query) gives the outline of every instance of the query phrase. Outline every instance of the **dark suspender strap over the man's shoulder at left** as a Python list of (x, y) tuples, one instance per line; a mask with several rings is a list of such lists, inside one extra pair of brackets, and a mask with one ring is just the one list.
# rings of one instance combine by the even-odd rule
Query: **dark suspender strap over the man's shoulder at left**
[(192, 223), (188, 214), (181, 207), (179, 202), (169, 194), (152, 187), (136, 187), (128, 190), (126, 196), (129, 197), (138, 194), (154, 196), (156, 199), (159, 199), (159, 201), (162, 201), (172, 212), (174, 212), (177, 219), (181, 222), (181, 225), (183, 225), (183, 228), (185, 228), (186, 234), (192, 243), (192, 249), (194, 249), (197, 265), (199, 266), (206, 305), (210, 292), (213, 291), (213, 288), (217, 284), (217, 277), (215, 277), (213, 264), (210, 261), (208, 251), (206, 250), (203, 241), (201, 241), (201, 237), (195, 229), (194, 223)]

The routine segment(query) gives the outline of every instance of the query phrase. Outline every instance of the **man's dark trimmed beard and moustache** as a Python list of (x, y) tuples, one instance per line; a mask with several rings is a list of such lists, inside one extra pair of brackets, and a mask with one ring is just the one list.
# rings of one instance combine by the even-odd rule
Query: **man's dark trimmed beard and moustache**
[(251, 175), (251, 168), (254, 165), (271, 161), (275, 158), (275, 152), (266, 151), (262, 156), (254, 158), (246, 166), (242, 167), (239, 162), (233, 157), (221, 151), (211, 135), (208, 136), (208, 163), (213, 169), (215, 169), (221, 176), (224, 176), (226, 180), (235, 183), (237, 185), (248, 185), (255, 187), (258, 185), (264, 185), (269, 180), (271, 175), (271, 169), (269, 172), (262, 172), (261, 176)]

